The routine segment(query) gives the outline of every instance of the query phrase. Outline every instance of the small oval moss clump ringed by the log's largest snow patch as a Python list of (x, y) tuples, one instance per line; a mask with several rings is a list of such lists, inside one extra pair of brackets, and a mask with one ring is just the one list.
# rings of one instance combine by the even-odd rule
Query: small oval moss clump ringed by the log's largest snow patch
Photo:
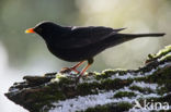
[(128, 98), (132, 98), (132, 97), (135, 97), (136, 94), (135, 92), (129, 92), (129, 91), (118, 91), (116, 92), (113, 98), (122, 98), (122, 97), (128, 97)]

